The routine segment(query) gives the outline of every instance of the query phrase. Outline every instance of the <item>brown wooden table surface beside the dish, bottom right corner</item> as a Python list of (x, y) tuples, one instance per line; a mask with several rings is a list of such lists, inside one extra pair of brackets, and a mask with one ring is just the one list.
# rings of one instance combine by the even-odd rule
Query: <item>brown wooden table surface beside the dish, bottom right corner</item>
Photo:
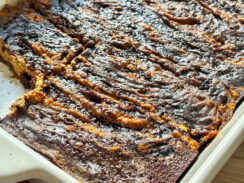
[(244, 142), (212, 183), (244, 183)]

